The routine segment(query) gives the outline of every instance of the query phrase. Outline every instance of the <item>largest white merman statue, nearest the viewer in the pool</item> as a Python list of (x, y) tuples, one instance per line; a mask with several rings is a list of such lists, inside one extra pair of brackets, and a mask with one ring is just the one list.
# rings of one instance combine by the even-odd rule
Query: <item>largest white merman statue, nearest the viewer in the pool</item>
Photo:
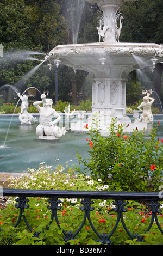
[[(34, 106), (40, 113), (40, 124), (36, 127), (36, 135), (40, 139), (58, 139), (67, 132), (65, 127), (62, 129), (59, 126), (55, 126), (61, 119), (60, 115), (52, 108), (52, 99), (46, 99), (46, 95), (41, 95), (42, 101), (34, 102)], [(43, 107), (39, 105), (43, 103)], [(52, 118), (56, 119), (52, 121)]]

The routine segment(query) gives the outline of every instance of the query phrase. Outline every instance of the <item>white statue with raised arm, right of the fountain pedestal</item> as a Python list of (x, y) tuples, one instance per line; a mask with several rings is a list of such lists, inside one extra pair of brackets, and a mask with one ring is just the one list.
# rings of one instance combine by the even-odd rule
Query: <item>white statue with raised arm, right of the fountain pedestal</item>
[[(143, 102), (140, 104), (139, 107), (137, 107), (137, 109), (142, 111), (142, 114), (140, 115), (140, 121), (142, 121), (143, 123), (152, 123), (153, 121), (151, 105), (154, 102), (154, 99), (149, 97), (149, 95), (150, 94), (147, 93), (147, 96), (143, 97)], [(143, 110), (141, 108), (143, 108)]]

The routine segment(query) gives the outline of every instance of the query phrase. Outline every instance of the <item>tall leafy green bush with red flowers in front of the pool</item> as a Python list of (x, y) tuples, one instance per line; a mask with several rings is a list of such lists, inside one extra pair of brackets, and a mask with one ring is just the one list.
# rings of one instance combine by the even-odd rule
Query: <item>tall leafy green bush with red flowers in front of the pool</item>
[(92, 179), (102, 179), (110, 190), (158, 191), (163, 170), (163, 142), (156, 135), (159, 122), (147, 135), (137, 129), (124, 134), (124, 126), (112, 120), (108, 137), (101, 136), (97, 116), (94, 125), (87, 139), (89, 159), (77, 154)]

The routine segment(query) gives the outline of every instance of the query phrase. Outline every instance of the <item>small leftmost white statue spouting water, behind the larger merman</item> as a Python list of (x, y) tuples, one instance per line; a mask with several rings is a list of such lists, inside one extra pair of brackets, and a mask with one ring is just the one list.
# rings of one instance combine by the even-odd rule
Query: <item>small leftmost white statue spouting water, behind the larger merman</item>
[(36, 118), (33, 117), (32, 114), (28, 113), (28, 96), (23, 95), (21, 96), (20, 93), (17, 94), (18, 97), (20, 97), (22, 103), (21, 103), (21, 114), (19, 115), (19, 120), (21, 121), (21, 124), (26, 124), (26, 125), (30, 125), (31, 122), (35, 122), (37, 121)]

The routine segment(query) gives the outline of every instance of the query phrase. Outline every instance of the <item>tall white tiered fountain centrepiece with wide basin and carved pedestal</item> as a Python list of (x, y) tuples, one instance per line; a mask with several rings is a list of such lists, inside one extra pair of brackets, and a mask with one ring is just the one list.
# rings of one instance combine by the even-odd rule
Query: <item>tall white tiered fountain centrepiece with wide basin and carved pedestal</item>
[[(163, 59), (162, 45), (119, 42), (123, 16), (118, 10), (123, 2), (128, 1), (135, 0), (87, 0), (97, 3), (102, 10), (97, 27), (99, 42), (59, 45), (45, 57), (49, 65), (60, 62), (74, 70), (92, 74), (92, 116), (88, 124), (92, 124), (93, 113), (98, 112), (103, 131), (107, 131), (111, 117), (117, 117), (117, 123), (130, 124), (127, 131), (136, 127), (147, 129), (147, 123), (136, 123), (136, 119), (131, 123), (126, 115), (127, 76), (146, 66), (151, 66), (153, 71), (155, 64)], [(100, 42), (101, 38), (103, 42)], [(143, 62), (139, 62), (142, 58)]]

